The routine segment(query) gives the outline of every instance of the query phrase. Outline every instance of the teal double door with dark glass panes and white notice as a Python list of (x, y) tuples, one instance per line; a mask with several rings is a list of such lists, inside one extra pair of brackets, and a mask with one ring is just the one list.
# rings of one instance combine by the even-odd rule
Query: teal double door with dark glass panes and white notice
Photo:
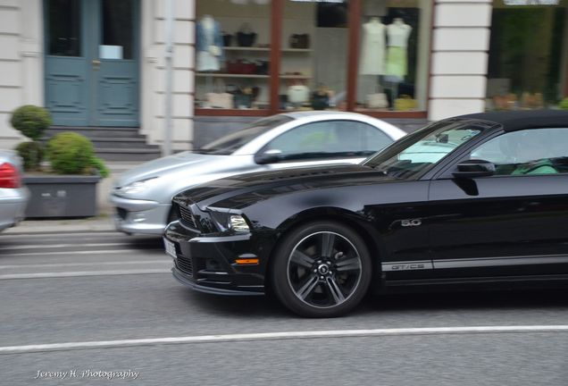
[(138, 0), (44, 0), (55, 125), (138, 126)]

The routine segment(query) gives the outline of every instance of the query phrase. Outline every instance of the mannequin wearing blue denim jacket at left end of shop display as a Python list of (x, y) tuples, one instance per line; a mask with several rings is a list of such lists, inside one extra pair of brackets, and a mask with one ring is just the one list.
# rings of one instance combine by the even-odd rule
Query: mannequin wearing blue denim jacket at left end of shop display
[(196, 27), (196, 70), (219, 71), (223, 61), (221, 26), (212, 16), (204, 15)]

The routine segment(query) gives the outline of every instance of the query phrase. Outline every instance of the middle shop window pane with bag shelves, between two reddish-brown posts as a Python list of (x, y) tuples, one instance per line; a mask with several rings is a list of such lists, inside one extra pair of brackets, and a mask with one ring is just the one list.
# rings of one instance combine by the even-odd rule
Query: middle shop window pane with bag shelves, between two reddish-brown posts
[(347, 13), (347, 2), (284, 2), (280, 110), (345, 110)]

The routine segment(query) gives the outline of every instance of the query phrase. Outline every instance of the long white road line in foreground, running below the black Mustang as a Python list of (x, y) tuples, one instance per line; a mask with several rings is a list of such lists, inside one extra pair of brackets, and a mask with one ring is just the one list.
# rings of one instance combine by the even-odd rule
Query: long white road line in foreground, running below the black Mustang
[(473, 333), (519, 333), (519, 332), (568, 332), (568, 325), (528, 326), (472, 326), (472, 327), (424, 327), (376, 330), (288, 331), (260, 332), (227, 335), (201, 335), (175, 338), (150, 338), (138, 340), (97, 340), (69, 343), (52, 343), (26, 346), (0, 347), (0, 354), (17, 354), (40, 351), (62, 351), (88, 348), (121, 348), (158, 344), (214, 343), (250, 340), (297, 340), (317, 338), (351, 338), (400, 335), (441, 335)]

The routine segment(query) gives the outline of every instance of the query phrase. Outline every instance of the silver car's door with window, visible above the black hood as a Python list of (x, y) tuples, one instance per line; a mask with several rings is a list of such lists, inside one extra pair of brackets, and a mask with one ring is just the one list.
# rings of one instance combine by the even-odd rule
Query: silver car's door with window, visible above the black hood
[[(357, 164), (392, 142), (380, 129), (364, 122), (310, 122), (273, 138), (255, 155), (255, 161), (265, 164), (266, 169)], [(263, 155), (271, 155), (271, 159), (259, 161)]]

